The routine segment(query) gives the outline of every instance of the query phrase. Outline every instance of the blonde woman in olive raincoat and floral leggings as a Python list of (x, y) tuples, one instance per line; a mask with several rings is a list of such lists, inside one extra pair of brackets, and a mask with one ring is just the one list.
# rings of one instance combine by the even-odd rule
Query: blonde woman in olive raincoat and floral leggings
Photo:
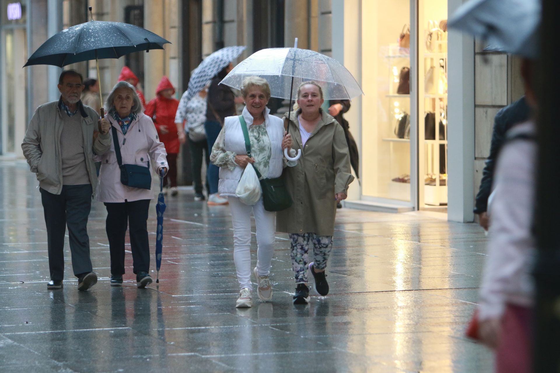
[[(294, 111), (284, 116), (284, 127), (292, 135), (293, 149), (301, 149), (297, 166), (285, 168), (284, 181), (293, 205), (277, 213), (276, 229), (287, 232), (296, 278), (294, 304), (309, 303), (307, 270), (315, 280), (315, 291), (329, 292), (325, 278), (326, 262), (333, 247), (334, 216), (337, 202), (346, 199), (354, 180), (342, 126), (321, 109), (323, 90), (315, 82), (304, 82), (297, 89)], [(309, 245), (313, 261), (307, 260)]]

